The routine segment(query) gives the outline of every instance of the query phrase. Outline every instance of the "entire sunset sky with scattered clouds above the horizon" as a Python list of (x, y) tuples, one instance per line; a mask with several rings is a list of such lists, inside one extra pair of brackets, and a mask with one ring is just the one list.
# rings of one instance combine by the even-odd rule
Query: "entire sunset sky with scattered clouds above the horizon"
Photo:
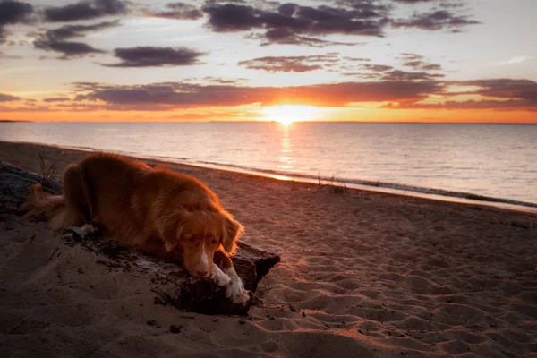
[(537, 123), (535, 0), (0, 0), (0, 120)]

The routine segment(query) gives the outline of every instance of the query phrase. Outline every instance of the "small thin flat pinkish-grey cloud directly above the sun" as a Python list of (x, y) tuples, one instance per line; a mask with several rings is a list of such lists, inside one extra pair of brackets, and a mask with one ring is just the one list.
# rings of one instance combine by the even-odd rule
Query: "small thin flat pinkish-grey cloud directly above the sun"
[(266, 72), (310, 72), (335, 62), (335, 55), (267, 56), (241, 61), (238, 65)]

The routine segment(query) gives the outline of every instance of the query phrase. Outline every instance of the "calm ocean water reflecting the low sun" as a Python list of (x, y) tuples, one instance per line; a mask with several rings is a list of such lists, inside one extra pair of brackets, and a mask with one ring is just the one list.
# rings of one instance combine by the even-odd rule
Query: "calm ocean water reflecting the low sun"
[(537, 125), (0, 123), (0, 141), (537, 204)]

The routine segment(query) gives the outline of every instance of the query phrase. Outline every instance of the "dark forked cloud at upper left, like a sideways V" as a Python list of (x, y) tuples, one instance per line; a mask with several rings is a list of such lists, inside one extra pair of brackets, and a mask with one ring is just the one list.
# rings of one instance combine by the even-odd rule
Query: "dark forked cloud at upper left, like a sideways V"
[(38, 38), (34, 41), (34, 47), (45, 51), (59, 52), (63, 54), (60, 58), (64, 60), (85, 55), (103, 54), (105, 51), (91, 47), (88, 44), (66, 41), (66, 39), (81, 38), (86, 36), (87, 32), (105, 30), (119, 26), (119, 24), (119, 21), (104, 21), (92, 25), (65, 25), (38, 35)]

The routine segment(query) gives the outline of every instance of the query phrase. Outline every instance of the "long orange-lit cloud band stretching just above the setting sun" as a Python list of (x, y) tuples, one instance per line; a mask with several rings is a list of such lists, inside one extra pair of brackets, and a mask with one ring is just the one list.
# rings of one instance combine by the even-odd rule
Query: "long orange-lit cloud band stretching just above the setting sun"
[[(71, 111), (185, 109), (188, 112), (191, 108), (197, 108), (193, 110), (196, 115), (191, 119), (201, 118), (202, 112), (209, 110), (201, 108), (208, 107), (215, 107), (209, 110), (212, 113), (216, 113), (215, 111), (226, 113), (225, 109), (216, 107), (286, 104), (355, 107), (363, 102), (378, 103), (384, 108), (394, 110), (420, 108), (537, 111), (537, 82), (534, 81), (512, 79), (441, 81), (438, 77), (431, 77), (430, 73), (398, 70), (379, 73), (383, 80), (289, 87), (248, 87), (237, 84), (185, 82), (145, 85), (78, 82), (73, 83), (73, 91), (69, 95), (74, 99), (50, 98), (45, 102), (54, 103), (54, 110), (63, 108), (62, 110)], [(453, 91), (461, 88), (465, 90)], [(19, 111), (20, 108), (9, 110)], [(188, 118), (188, 115), (180, 115), (175, 119)]]

